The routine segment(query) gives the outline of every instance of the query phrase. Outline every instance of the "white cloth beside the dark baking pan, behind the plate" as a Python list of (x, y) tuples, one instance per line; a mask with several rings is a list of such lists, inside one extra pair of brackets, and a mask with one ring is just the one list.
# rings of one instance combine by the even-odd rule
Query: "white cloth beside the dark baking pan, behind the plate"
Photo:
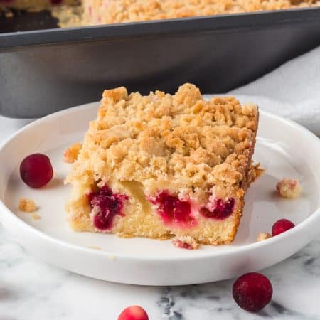
[(320, 46), (229, 93), (250, 95), (262, 110), (292, 119), (320, 136)]

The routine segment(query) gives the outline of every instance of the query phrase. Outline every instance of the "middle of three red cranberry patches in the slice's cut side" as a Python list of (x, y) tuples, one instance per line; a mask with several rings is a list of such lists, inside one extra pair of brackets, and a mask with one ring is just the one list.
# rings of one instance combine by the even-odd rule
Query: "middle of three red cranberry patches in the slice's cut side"
[(168, 191), (159, 192), (149, 201), (158, 206), (158, 213), (164, 224), (178, 228), (192, 228), (196, 226), (196, 219), (191, 215), (191, 203), (182, 201), (177, 196), (171, 196)]

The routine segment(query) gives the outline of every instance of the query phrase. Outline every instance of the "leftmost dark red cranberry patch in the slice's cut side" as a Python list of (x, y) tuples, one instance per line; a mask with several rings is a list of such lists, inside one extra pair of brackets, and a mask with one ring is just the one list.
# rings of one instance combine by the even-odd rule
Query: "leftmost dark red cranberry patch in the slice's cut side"
[(98, 191), (90, 192), (88, 200), (91, 208), (97, 208), (98, 212), (93, 218), (95, 228), (110, 230), (115, 215), (124, 216), (122, 209), (128, 196), (121, 193), (113, 193), (108, 186), (103, 186)]

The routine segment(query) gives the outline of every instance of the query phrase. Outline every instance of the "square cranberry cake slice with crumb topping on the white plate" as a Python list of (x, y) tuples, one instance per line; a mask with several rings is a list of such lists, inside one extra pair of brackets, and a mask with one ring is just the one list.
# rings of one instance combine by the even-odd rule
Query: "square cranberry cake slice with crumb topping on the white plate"
[(67, 182), (71, 228), (122, 237), (230, 243), (238, 230), (258, 110), (234, 97), (205, 101), (105, 90)]

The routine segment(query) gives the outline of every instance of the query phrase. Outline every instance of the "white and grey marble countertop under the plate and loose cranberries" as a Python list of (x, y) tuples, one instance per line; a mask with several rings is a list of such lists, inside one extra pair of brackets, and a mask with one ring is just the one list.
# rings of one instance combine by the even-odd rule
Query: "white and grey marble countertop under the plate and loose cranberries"
[[(0, 142), (26, 123), (0, 117)], [(0, 320), (117, 320), (132, 304), (143, 306), (150, 320), (320, 319), (319, 251), (320, 235), (263, 270), (273, 299), (259, 314), (250, 314), (233, 301), (233, 279), (183, 287), (102, 282), (37, 260), (0, 226)]]

